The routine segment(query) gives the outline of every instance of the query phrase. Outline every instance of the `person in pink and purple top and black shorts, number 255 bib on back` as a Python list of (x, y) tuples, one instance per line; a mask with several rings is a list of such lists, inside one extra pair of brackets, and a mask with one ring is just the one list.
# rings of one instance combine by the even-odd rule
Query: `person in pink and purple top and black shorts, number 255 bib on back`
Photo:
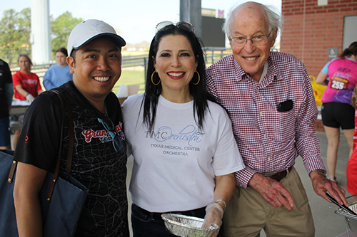
[(330, 179), (336, 181), (340, 127), (350, 147), (350, 157), (352, 154), (355, 110), (351, 104), (351, 95), (357, 84), (357, 42), (351, 43), (340, 58), (329, 61), (318, 74), (316, 83), (324, 84), (327, 77), (329, 81), (321, 99), (321, 115), (328, 139), (328, 172)]

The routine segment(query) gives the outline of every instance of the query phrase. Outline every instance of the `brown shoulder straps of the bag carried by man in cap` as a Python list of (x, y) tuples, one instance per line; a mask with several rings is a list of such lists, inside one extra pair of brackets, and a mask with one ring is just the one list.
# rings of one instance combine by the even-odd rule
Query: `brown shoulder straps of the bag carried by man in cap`
[(56, 95), (59, 96), (59, 99), (61, 100), (61, 105), (62, 105), (62, 124), (61, 124), (61, 140), (59, 142), (59, 155), (57, 157), (57, 164), (56, 164), (56, 169), (54, 172), (54, 179), (52, 179), (51, 186), (49, 187), (49, 194), (47, 194), (47, 202), (51, 201), (52, 194), (54, 193), (54, 186), (56, 184), (58, 175), (59, 175), (59, 160), (61, 159), (61, 149), (62, 149), (62, 138), (63, 138), (63, 132), (64, 132), (64, 117), (65, 117), (65, 112), (66, 112), (66, 107), (64, 104), (67, 106), (67, 110), (69, 112), (69, 147), (68, 147), (68, 154), (67, 154), (67, 167), (66, 167), (66, 172), (68, 174), (71, 173), (71, 163), (72, 163), (72, 153), (73, 153), (73, 141), (74, 141), (74, 122), (73, 122), (73, 115), (72, 115), (72, 109), (71, 105), (69, 105), (68, 100), (64, 96), (63, 93), (61, 93), (59, 90), (51, 90), (52, 92), (56, 93)]

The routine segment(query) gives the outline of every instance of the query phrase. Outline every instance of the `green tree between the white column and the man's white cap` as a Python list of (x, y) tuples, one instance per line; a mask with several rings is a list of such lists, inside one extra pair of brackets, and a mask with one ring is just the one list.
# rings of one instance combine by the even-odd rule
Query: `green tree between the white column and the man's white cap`
[(69, 33), (71, 33), (74, 26), (81, 21), (84, 20), (81, 18), (74, 18), (68, 11), (57, 17), (54, 21), (51, 21), (51, 45), (53, 57), (54, 52), (56, 52), (58, 48), (67, 48)]

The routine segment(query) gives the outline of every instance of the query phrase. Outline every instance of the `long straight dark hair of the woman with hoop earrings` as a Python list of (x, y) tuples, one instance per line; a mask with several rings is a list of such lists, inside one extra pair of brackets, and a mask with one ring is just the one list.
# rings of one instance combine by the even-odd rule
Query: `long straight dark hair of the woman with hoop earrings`
[[(161, 83), (159, 85), (154, 85), (151, 82), (151, 75), (154, 73), (154, 61), (156, 60), (156, 53), (159, 48), (159, 43), (162, 38), (166, 36), (185, 36), (188, 41), (191, 43), (191, 47), (196, 58), (197, 72), (200, 75), (200, 81), (197, 85), (193, 85), (198, 81), (197, 73), (193, 74), (193, 78), (189, 83), (189, 92), (193, 97), (193, 115), (195, 115), (196, 125), (199, 130), (203, 129), (204, 117), (206, 111), (208, 110), (207, 100), (213, 100), (208, 93), (206, 92), (206, 65), (204, 60), (204, 55), (202, 51), (201, 41), (196, 37), (196, 35), (191, 31), (185, 31), (176, 26), (167, 28), (164, 31), (159, 31), (156, 33), (154, 39), (151, 41), (150, 50), (149, 50), (149, 60), (148, 68), (146, 73), (146, 85), (145, 85), (145, 96), (144, 100), (141, 103), (141, 107), (144, 107), (143, 112), (143, 122), (149, 128), (149, 131), (154, 130), (154, 123), (156, 117), (157, 105), (159, 102), (159, 96), (161, 94)], [(158, 83), (160, 78), (158, 73), (154, 73), (153, 76), (154, 83)]]

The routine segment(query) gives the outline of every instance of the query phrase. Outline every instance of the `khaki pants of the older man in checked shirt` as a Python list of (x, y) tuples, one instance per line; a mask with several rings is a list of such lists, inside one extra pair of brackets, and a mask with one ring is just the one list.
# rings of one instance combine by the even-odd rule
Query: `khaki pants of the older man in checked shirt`
[(293, 211), (274, 208), (254, 189), (236, 187), (223, 216), (224, 236), (260, 236), (261, 229), (272, 237), (314, 236), (308, 197), (296, 169), (280, 182), (293, 196)]

